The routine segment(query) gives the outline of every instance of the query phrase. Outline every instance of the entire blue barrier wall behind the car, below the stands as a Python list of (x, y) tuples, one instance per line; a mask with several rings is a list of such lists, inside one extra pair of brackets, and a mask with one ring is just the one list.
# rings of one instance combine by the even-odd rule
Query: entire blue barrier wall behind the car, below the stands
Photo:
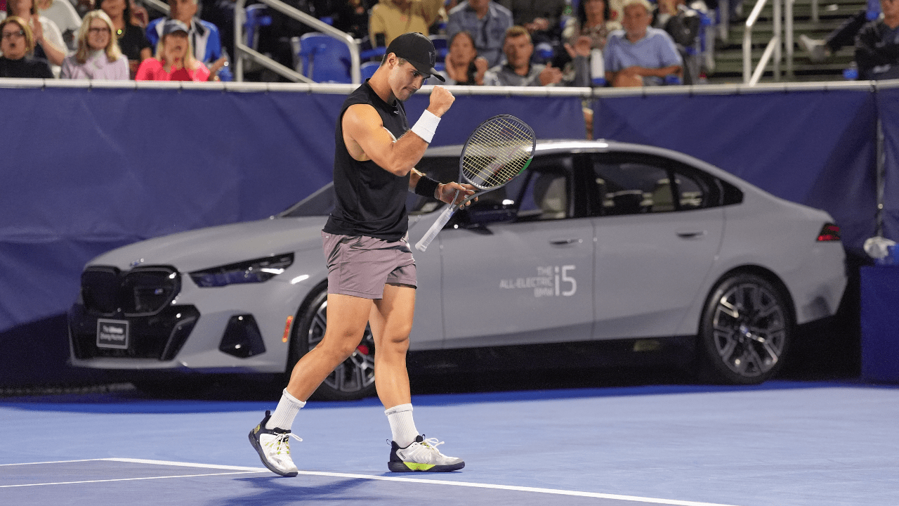
[[(593, 129), (597, 138), (687, 152), (826, 209), (859, 248), (874, 230), (878, 109), (885, 226), (894, 239), (899, 231), (897, 93), (605, 96), (594, 100)], [(409, 100), (412, 121), (428, 100)], [(306, 91), (0, 89), (15, 125), (5, 131), (0, 185), (0, 384), (36, 381), (29, 374), (49, 381), (47, 371), (64, 364), (60, 315), (90, 258), (140, 239), (264, 218), (329, 181), (342, 102)], [(458, 96), (434, 144), (462, 142), (497, 113), (521, 117), (541, 138), (582, 139), (582, 108), (578, 96)], [(48, 329), (52, 336), (30, 340)], [(22, 351), (26, 344), (35, 348)], [(50, 349), (56, 358), (32, 368)]]

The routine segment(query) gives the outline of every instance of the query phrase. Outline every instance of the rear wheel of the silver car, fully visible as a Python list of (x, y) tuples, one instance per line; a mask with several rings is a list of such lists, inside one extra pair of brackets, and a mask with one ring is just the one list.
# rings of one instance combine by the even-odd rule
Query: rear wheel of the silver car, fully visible
[(708, 297), (699, 326), (707, 379), (761, 384), (783, 366), (793, 331), (786, 297), (752, 274), (722, 280)]

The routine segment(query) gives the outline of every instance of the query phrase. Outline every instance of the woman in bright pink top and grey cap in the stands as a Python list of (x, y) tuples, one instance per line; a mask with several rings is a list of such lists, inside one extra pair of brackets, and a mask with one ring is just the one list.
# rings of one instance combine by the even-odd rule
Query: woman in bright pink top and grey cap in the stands
[(206, 81), (209, 68), (194, 58), (190, 28), (170, 19), (162, 24), (162, 38), (156, 45), (156, 57), (140, 62), (138, 81)]

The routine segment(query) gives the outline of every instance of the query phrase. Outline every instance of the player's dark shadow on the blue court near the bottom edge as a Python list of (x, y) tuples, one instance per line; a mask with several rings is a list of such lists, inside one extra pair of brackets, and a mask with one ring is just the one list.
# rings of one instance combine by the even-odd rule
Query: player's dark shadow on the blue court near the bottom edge
[[(309, 483), (310, 481), (315, 483)], [(301, 474), (295, 478), (281, 476), (254, 476), (236, 478), (241, 490), (235, 491), (233, 497), (226, 501), (216, 499), (209, 506), (250, 506), (265, 504), (278, 506), (305, 501), (391, 501), (401, 499), (399, 495), (386, 495), (384, 491), (376, 492), (371, 487), (371, 480), (347, 478), (331, 480), (326, 476), (309, 476)], [(245, 491), (245, 487), (250, 490)], [(247, 493), (242, 493), (247, 492)]]

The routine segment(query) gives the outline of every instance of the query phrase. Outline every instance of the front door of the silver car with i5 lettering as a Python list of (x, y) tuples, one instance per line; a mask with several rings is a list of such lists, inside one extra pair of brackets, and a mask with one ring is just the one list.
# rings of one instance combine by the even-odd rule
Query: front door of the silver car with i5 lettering
[(473, 226), (472, 209), (441, 231), (445, 348), (590, 339), (593, 226), (573, 186), (571, 155), (535, 158), (476, 203), (512, 221)]

